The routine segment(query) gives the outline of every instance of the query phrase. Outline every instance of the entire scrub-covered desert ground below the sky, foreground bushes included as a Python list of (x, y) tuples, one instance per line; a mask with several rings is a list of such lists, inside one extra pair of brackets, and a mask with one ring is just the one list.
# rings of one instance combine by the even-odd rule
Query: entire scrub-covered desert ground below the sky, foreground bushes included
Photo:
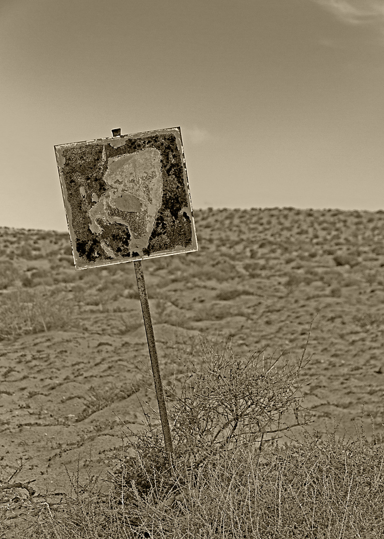
[(132, 265), (0, 229), (0, 537), (383, 537), (384, 212), (195, 213), (143, 262), (172, 468)]

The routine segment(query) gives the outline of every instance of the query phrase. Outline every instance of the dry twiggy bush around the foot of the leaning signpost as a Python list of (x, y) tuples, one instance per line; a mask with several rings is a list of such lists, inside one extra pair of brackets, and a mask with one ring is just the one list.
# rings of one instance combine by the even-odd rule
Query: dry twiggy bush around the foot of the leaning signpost
[(159, 422), (153, 425), (144, 412), (146, 428), (131, 432), (134, 441), (128, 442), (134, 456), (117, 459), (111, 474), (116, 493), (125, 502), (154, 490), (160, 497), (167, 496), (176, 486), (175, 476), (179, 488), (183, 476), (198, 474), (214, 455), (228, 454), (238, 446), (257, 446), (260, 453), (279, 433), (310, 423), (312, 416), (299, 395), (305, 350), (295, 365), (283, 354), (266, 357), (265, 351), (241, 360), (234, 357), (231, 345), (219, 352), (203, 343), (203, 351), (200, 365), (185, 366), (188, 376), (181, 394), (177, 395), (174, 386), (167, 388), (171, 395), (172, 473)]

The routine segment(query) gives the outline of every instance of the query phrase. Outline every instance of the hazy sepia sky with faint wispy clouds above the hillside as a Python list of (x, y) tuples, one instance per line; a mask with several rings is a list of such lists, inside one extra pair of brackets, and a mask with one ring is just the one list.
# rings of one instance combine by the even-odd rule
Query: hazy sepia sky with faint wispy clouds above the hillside
[(384, 209), (384, 1), (0, 0), (0, 118), (0, 226), (117, 127), (181, 127), (193, 208)]

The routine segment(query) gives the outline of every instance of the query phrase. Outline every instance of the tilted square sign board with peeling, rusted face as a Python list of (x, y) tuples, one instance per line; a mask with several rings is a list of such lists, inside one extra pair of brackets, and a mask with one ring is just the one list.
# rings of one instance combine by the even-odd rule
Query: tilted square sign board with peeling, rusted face
[(55, 153), (76, 269), (197, 251), (179, 127)]

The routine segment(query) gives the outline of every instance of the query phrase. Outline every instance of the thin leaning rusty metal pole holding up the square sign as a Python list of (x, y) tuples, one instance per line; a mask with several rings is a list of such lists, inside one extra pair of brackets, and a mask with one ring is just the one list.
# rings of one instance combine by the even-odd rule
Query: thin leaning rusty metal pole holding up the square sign
[[(112, 129), (112, 135), (115, 137), (121, 135), (121, 129)], [(165, 406), (165, 398), (163, 391), (163, 382), (160, 374), (159, 361), (157, 357), (155, 334), (153, 333), (151, 312), (149, 310), (148, 294), (146, 292), (144, 272), (141, 260), (134, 261), (137, 288), (140, 296), (141, 310), (143, 313), (144, 327), (146, 333), (146, 341), (148, 342), (149, 357), (152, 365), (153, 382), (155, 382), (155, 390), (157, 404), (159, 407), (160, 420), (162, 423), (165, 450), (168, 454), (170, 470), (172, 471), (173, 464), (173, 445), (171, 438), (171, 429), (169, 426), (168, 414)]]

